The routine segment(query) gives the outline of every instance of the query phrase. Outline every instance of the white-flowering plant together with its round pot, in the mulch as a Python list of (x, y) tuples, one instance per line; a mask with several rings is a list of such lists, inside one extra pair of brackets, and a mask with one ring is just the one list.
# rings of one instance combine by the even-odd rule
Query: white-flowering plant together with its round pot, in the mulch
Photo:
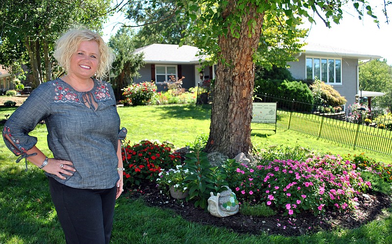
[(175, 169), (163, 170), (156, 179), (159, 186), (169, 186), (170, 195), (175, 199), (184, 199), (188, 196), (188, 183), (185, 177), (190, 175), (188, 169), (184, 169), (182, 165), (176, 165)]

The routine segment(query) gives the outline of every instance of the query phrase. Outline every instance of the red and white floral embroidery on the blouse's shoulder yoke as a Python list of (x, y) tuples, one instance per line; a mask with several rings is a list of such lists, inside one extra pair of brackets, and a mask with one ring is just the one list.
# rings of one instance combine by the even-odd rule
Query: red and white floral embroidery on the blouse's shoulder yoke
[[(72, 89), (64, 87), (64, 84), (61, 84), (56, 81), (53, 83), (53, 86), (55, 92), (55, 102), (74, 102), (79, 104), (82, 103), (81, 99), (79, 98), (79, 94), (77, 92), (74, 92)], [(109, 88), (107, 86), (108, 84), (102, 81), (95, 81), (95, 91), (93, 91), (93, 94), (96, 101), (105, 101), (107, 99), (112, 99), (109, 93)]]

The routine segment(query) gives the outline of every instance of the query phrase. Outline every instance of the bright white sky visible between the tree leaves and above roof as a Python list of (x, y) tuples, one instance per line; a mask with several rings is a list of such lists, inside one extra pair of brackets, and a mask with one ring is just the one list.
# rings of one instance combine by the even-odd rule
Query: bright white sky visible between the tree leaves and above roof
[[(316, 16), (316, 23), (305, 23), (302, 28), (308, 28), (308, 36), (305, 42), (325, 44), (342, 47), (347, 50), (359, 51), (364, 54), (378, 55), (387, 59), (387, 63), (392, 65), (392, 7), (389, 12), (389, 24), (382, 14), (384, 0), (371, 0), (373, 12), (378, 17), (379, 24), (373, 22), (373, 18), (365, 15), (362, 20), (358, 19), (358, 14), (353, 7), (344, 7), (343, 19), (339, 24), (331, 23), (331, 28)], [(104, 24), (103, 39), (109, 41), (111, 35), (115, 35), (121, 24), (127, 22), (121, 14), (115, 14), (109, 22)]]

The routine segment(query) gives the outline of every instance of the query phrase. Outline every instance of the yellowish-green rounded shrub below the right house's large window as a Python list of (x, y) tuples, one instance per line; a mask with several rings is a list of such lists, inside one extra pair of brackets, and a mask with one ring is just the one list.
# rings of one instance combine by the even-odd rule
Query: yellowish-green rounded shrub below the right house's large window
[(347, 102), (347, 100), (341, 96), (339, 91), (320, 80), (315, 80), (310, 86), (310, 89), (312, 90), (317, 103), (325, 103), (328, 106), (337, 107), (342, 106)]

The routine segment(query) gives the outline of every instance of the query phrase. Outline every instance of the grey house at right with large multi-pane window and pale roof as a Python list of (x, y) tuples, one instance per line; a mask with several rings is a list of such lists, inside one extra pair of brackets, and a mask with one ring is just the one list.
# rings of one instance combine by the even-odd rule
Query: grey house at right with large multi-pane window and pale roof
[[(297, 55), (298, 62), (289, 62), (289, 70), (294, 79), (313, 80), (316, 77), (345, 97), (347, 106), (355, 103), (359, 90), (358, 68), (381, 56), (366, 54), (321, 44), (307, 44)], [(360, 61), (362, 63), (360, 64)]]

